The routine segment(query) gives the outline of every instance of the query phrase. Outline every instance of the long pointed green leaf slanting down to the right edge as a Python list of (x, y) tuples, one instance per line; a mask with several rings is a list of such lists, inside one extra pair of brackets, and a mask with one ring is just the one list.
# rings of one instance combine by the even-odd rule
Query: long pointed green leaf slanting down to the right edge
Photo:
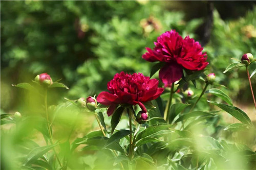
[(214, 101), (207, 101), (207, 102), (212, 103), (212, 104), (218, 106), (219, 108), (221, 108), (224, 111), (226, 111), (229, 114), (231, 114), (233, 117), (235, 117), (238, 120), (240, 120), (242, 123), (244, 123), (246, 125), (249, 125), (249, 126), (253, 126), (253, 124), (251, 123), (250, 118), (241, 109), (239, 109), (237, 107), (234, 107), (234, 106), (229, 106), (229, 105), (226, 105), (226, 104), (223, 104), (223, 103), (219, 103), (219, 102), (214, 102)]

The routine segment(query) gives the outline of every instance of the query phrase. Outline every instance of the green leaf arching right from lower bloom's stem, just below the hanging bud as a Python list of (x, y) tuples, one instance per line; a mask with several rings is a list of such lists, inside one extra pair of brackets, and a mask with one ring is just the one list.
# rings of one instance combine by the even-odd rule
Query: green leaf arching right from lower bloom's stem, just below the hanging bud
[(144, 131), (140, 132), (136, 136), (135, 142), (140, 140), (140, 139), (142, 139), (142, 138), (152, 136), (152, 135), (158, 133), (161, 130), (166, 130), (166, 129), (168, 129), (171, 126), (172, 125), (167, 125), (167, 124), (166, 125), (153, 125), (153, 126), (150, 126), (150, 127), (146, 128)]

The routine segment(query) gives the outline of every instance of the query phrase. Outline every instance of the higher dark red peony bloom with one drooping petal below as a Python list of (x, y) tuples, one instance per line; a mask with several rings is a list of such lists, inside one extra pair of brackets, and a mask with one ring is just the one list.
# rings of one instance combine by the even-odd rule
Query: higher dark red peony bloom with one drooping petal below
[(165, 86), (180, 80), (183, 68), (196, 71), (209, 64), (199, 42), (189, 36), (183, 39), (175, 30), (163, 33), (154, 43), (154, 50), (146, 47), (147, 53), (142, 55), (142, 58), (150, 62), (166, 63), (159, 71), (159, 78)]

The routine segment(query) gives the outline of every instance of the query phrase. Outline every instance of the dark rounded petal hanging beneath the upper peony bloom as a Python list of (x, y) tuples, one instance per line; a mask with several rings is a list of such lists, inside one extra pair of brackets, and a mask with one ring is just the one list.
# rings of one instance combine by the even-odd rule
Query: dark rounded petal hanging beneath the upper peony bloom
[(174, 83), (183, 75), (182, 66), (176, 62), (166, 63), (159, 71), (159, 78), (165, 87), (170, 83)]

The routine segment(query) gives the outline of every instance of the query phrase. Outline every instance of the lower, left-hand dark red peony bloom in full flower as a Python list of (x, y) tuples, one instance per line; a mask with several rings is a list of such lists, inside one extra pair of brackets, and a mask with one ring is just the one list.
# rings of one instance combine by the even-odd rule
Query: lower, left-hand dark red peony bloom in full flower
[(141, 73), (130, 75), (122, 71), (108, 83), (110, 92), (99, 93), (97, 102), (110, 106), (107, 112), (109, 116), (119, 104), (139, 105), (146, 113), (143, 103), (157, 99), (164, 90), (158, 88), (158, 83), (157, 79), (150, 79)]

